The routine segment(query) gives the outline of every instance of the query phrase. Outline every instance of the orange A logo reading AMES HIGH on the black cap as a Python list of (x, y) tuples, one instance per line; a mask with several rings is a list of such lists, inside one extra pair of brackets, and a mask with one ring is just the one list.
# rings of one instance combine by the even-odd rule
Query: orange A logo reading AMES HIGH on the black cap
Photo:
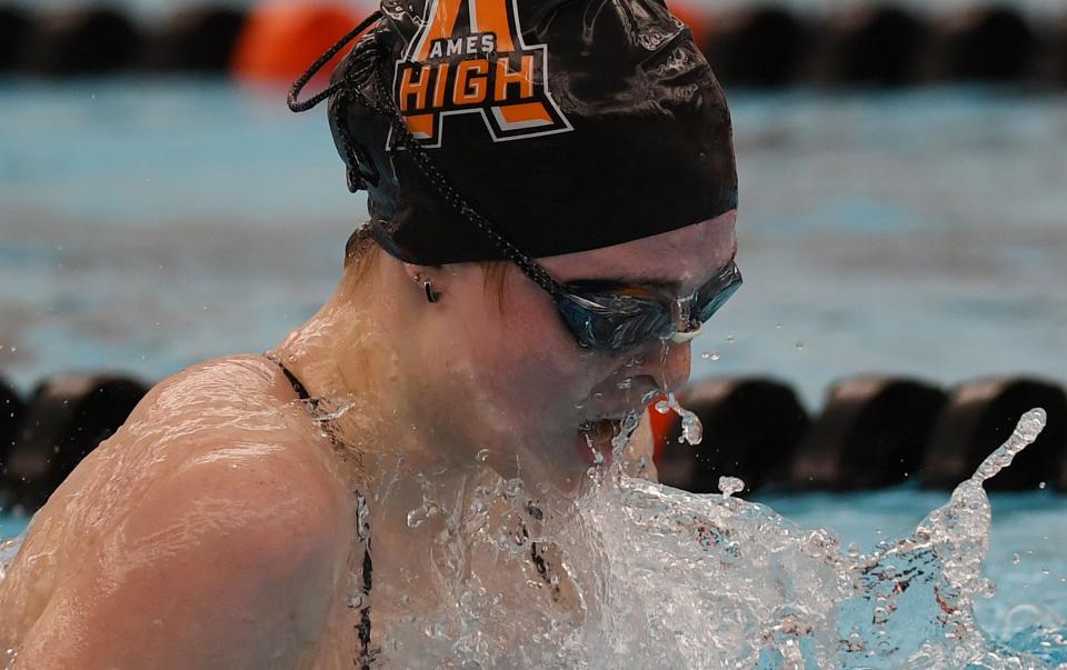
[(393, 77), (400, 113), (423, 146), (441, 146), (450, 114), (480, 113), (496, 142), (571, 130), (548, 90), (548, 47), (522, 41), (516, 2), (427, 0)]

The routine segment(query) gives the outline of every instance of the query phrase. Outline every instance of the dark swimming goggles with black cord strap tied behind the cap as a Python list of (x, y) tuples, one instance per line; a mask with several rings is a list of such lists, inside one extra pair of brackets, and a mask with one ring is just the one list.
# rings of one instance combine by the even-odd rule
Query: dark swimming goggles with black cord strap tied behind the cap
[[(395, 146), (407, 150), (408, 156), (421, 168), (427, 181), (437, 190), (445, 202), (456, 209), (460, 216), (480, 230), (496, 246), (505, 257), (548, 292), (564, 324), (574, 334), (582, 347), (600, 349), (609, 352), (634, 349), (651, 340), (670, 340), (676, 343), (686, 342), (697, 337), (704, 322), (711, 318), (720, 307), (741, 286), (741, 273), (732, 261), (710, 281), (697, 289), (687, 298), (676, 298), (644, 287), (619, 287), (602, 281), (575, 281), (560, 284), (552, 279), (540, 263), (519, 250), (508, 240), (488, 219), (479, 213), (457, 191), (445, 177), (445, 173), (430, 158), (411, 131), (397, 109), (392, 93), (381, 79), (380, 68), (377, 67), (377, 44), (375, 30), (370, 30), (356, 44), (353, 50), (362, 53), (359, 67), (338, 81), (332, 82), (325, 90), (316, 93), (308, 100), (299, 100), (300, 92), (311, 81), (311, 78), (346, 44), (370, 28), (381, 18), (381, 11), (376, 11), (351, 32), (338, 40), (326, 53), (308, 68), (289, 91), (289, 109), (295, 112), (307, 111), (332, 94), (348, 99), (355, 97), (363, 107), (382, 114), (392, 126)], [(373, 99), (363, 92), (367, 84), (373, 87)], [(335, 113), (343, 110), (343, 104), (335, 107)], [(338, 123), (343, 128), (343, 123)], [(352, 164), (361, 168), (358, 152), (349, 151), (348, 138), (345, 138), (347, 158)], [(375, 174), (363, 174), (360, 178), (377, 182)]]

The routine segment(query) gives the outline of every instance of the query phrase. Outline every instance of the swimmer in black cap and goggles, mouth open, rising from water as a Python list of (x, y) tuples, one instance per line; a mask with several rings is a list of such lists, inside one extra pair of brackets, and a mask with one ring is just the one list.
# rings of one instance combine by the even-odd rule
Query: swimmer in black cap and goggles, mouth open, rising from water
[(337, 291), (52, 494), (0, 582), (12, 668), (440, 667), (478, 593), (513, 666), (592, 616), (542, 536), (740, 286), (722, 91), (661, 0), (383, 1), (349, 38), (290, 94), (368, 192)]

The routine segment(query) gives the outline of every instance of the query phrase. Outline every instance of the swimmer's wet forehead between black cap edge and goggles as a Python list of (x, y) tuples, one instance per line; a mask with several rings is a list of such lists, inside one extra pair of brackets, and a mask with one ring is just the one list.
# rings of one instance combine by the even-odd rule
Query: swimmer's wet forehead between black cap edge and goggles
[(614, 247), (541, 259), (557, 281), (624, 279), (695, 288), (734, 257), (736, 210), (715, 219)]

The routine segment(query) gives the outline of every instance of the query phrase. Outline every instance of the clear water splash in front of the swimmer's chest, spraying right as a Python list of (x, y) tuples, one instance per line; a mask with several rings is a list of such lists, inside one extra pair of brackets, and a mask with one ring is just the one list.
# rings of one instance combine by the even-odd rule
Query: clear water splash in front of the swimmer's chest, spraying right
[[(380, 658), (471, 668), (1060, 668), (1061, 622), (1035, 619), (994, 640), (971, 611), (994, 591), (981, 574), (990, 522), (981, 484), (1044, 426), (1044, 412), (1027, 412), (945, 506), (869, 554), (737, 498), (736, 478), (719, 480), (721, 496), (694, 494), (595, 469), (596, 486), (555, 510), (488, 468), (458, 507), (427, 481), (407, 524), (427, 538), (429, 586), (415, 607), (406, 587), (376, 581), (371, 598), (400, 603), (392, 617), (376, 609)], [(365, 596), (353, 593), (353, 609)]]

